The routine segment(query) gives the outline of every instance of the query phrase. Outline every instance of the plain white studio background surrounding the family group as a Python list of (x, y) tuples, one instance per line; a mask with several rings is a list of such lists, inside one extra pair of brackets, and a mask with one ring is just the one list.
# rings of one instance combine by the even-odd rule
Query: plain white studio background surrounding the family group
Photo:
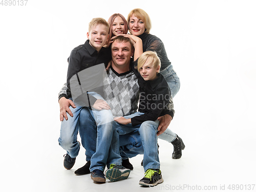
[[(143, 156), (131, 159), (129, 179), (98, 185), (90, 175), (73, 173), (85, 163), (84, 150), (74, 168), (66, 170), (65, 151), (57, 142), (57, 94), (66, 81), (71, 50), (86, 41), (92, 18), (127, 17), (134, 8), (151, 16), (151, 34), (164, 42), (181, 81), (169, 128), (186, 148), (180, 160), (172, 160), (172, 145), (159, 140), (164, 183), (149, 189), (138, 185)], [(255, 8), (255, 1), (29, 0), (26, 6), (0, 5), (1, 187), (64, 192), (173, 191), (169, 185), (220, 190), (225, 185), (230, 191), (229, 184), (244, 189), (256, 184)]]

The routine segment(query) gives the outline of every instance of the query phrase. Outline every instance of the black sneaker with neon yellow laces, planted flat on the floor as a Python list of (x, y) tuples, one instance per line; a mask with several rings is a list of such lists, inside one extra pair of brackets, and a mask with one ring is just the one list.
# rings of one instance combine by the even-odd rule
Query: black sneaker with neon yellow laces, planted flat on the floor
[(140, 180), (139, 184), (143, 186), (153, 187), (158, 183), (162, 183), (162, 173), (161, 170), (147, 169), (145, 176)]

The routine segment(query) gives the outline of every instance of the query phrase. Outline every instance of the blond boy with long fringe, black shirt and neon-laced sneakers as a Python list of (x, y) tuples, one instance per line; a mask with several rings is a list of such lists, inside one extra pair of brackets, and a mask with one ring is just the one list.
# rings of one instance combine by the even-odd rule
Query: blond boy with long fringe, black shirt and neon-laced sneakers
[[(134, 70), (138, 76), (140, 87), (140, 103), (139, 112), (115, 118), (119, 124), (126, 125), (126, 130), (133, 130), (139, 126), (140, 137), (144, 148), (143, 166), (145, 176), (139, 182), (144, 186), (155, 186), (162, 183), (162, 174), (160, 170), (160, 162), (157, 147), (157, 132), (159, 121), (158, 117), (164, 115), (170, 99), (170, 89), (165, 78), (159, 73), (160, 59), (155, 52), (146, 51), (138, 59), (138, 71)], [(171, 114), (173, 116), (174, 114)], [(132, 127), (132, 126), (133, 127)], [(122, 125), (121, 129), (116, 129), (119, 134), (125, 134)], [(128, 131), (128, 130), (127, 130)], [(167, 129), (165, 132), (172, 132)], [(175, 135), (174, 133), (170, 135)], [(131, 156), (130, 156), (131, 157)], [(118, 172), (114, 169), (108, 169), (105, 173), (106, 177), (112, 179), (110, 175)], [(113, 174), (112, 174), (113, 175)], [(111, 175), (111, 176), (112, 176)]]

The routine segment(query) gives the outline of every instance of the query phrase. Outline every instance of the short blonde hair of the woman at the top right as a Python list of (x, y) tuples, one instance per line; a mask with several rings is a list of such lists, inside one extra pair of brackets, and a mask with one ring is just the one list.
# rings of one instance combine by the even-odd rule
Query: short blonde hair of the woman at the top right
[[(143, 9), (133, 9), (127, 16), (127, 23), (129, 26), (130, 18), (132, 15), (136, 16), (137, 18), (141, 19), (145, 25), (144, 33), (148, 34), (151, 30), (151, 20), (150, 16), (143, 10)], [(130, 29), (129, 29), (130, 30)], [(130, 31), (131, 32), (131, 31)]]

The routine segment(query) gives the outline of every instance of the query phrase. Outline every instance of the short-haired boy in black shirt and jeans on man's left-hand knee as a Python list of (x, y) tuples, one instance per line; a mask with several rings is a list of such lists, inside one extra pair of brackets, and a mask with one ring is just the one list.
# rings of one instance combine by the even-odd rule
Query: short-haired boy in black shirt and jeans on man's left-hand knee
[(70, 106), (73, 117), (69, 116), (68, 120), (64, 119), (61, 122), (58, 139), (59, 145), (67, 151), (64, 156), (64, 167), (71, 169), (80, 148), (77, 141), (79, 114), (84, 107), (88, 108), (98, 125), (96, 153), (91, 158), (90, 166), (91, 177), (98, 182), (105, 182), (103, 170), (109, 156), (115, 124), (110, 106), (102, 98), (104, 65), (111, 60), (110, 50), (103, 47), (108, 36), (108, 22), (103, 18), (94, 18), (89, 23), (88, 40), (71, 52), (67, 87), (71, 90), (76, 108)]

